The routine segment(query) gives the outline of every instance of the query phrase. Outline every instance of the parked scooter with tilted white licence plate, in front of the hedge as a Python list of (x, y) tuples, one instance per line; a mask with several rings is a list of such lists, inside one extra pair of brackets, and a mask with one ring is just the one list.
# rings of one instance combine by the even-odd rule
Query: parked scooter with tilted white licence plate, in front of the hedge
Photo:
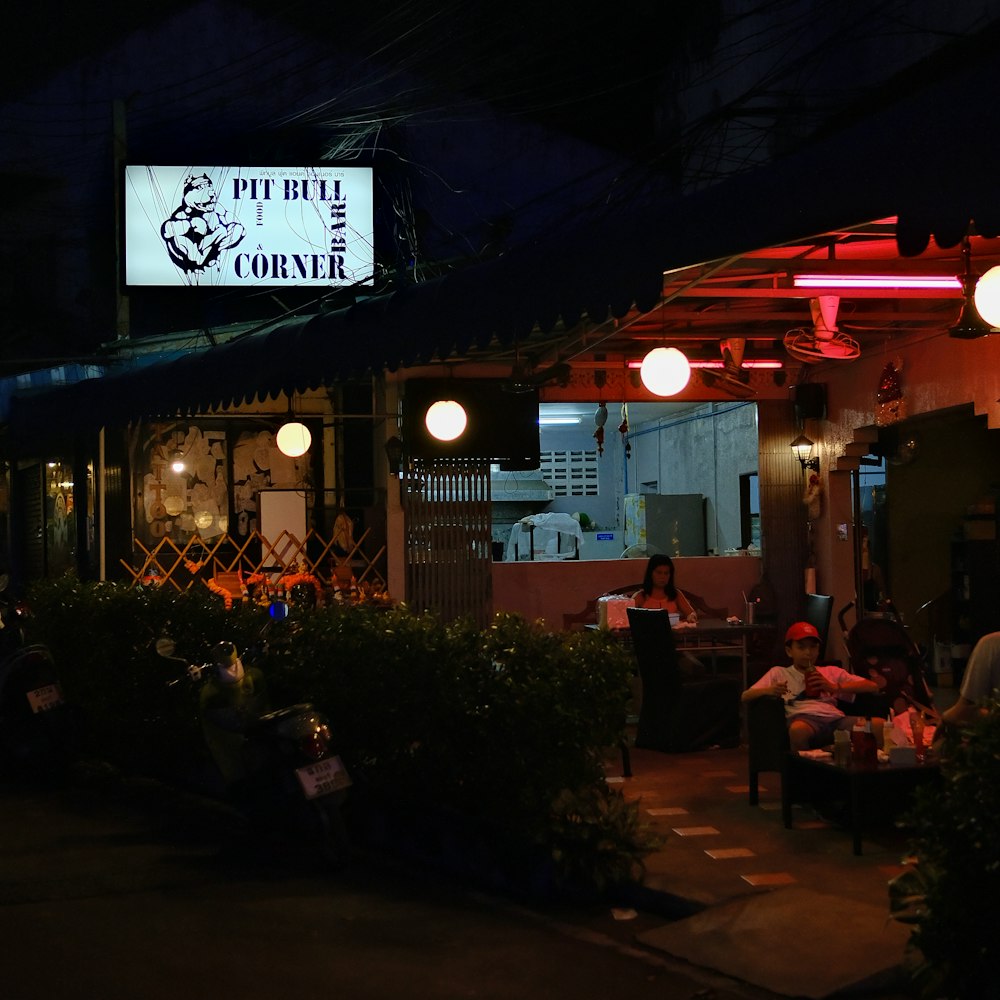
[(310, 704), (258, 715), (253, 697), (230, 699), (231, 709), (214, 698), (227, 684), (260, 683), (256, 668), (250, 673), (257, 677), (244, 673), (232, 643), (220, 643), (210, 664), (175, 657), (169, 639), (158, 640), (156, 650), (183, 664), (198, 685), (206, 742), (233, 804), (261, 832), (305, 842), (324, 864), (346, 863), (350, 840), (341, 807), (351, 778), (332, 748), (326, 717)]

